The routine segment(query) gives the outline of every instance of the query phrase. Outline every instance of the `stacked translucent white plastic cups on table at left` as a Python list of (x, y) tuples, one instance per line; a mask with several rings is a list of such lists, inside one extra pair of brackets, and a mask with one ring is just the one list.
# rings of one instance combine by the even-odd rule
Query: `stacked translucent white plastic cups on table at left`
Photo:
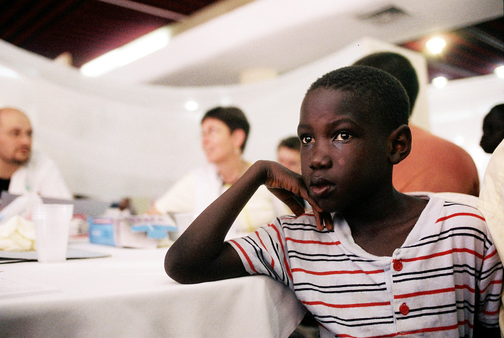
[(35, 225), (37, 260), (57, 263), (67, 259), (68, 233), (74, 206), (72, 204), (39, 204), (32, 220)]

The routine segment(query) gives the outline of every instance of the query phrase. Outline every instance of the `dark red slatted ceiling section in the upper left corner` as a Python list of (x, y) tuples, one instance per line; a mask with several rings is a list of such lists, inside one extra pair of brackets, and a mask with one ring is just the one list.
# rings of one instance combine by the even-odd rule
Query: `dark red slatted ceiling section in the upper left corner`
[(216, 0), (3, 0), (0, 38), (49, 59), (69, 52), (80, 67)]

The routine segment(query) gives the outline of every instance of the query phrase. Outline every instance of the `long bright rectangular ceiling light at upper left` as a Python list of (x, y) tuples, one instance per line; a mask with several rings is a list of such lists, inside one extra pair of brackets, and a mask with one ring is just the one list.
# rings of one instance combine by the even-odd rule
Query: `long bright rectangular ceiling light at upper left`
[(165, 47), (170, 40), (170, 29), (161, 27), (130, 43), (115, 48), (81, 67), (81, 73), (97, 77), (139, 60)]

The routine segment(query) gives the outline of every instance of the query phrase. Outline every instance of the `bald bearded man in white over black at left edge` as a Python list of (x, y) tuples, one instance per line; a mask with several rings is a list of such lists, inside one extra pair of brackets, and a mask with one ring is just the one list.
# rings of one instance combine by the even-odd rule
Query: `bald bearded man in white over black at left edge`
[(22, 195), (72, 199), (54, 162), (32, 152), (32, 126), (15, 108), (0, 108), (0, 190)]

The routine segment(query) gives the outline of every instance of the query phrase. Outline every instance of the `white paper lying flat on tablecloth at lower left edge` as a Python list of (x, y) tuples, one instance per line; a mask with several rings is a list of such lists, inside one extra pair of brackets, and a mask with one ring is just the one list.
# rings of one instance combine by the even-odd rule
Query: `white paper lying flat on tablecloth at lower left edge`
[(60, 292), (56, 288), (0, 270), (0, 299)]

